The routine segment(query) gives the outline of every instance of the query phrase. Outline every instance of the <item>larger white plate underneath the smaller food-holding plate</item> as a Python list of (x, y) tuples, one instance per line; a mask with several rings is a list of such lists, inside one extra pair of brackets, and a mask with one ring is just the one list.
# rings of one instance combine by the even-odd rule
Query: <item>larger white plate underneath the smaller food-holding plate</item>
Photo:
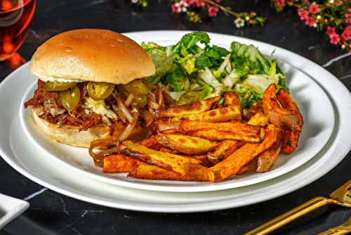
[[(138, 42), (147, 42), (150, 41), (151, 36), (158, 37), (160, 40), (165, 37), (164, 35), (178, 39), (185, 33), (162, 31), (135, 32), (126, 35), (138, 39)], [(286, 174), (265, 182), (234, 189), (191, 193), (164, 192), (109, 184), (74, 171), (67, 167), (67, 163), (53, 160), (27, 139), (20, 125), (18, 110), (22, 105), (22, 96), (19, 94), (25, 94), (28, 87), (34, 82), (34, 78), (28, 76), (27, 70), (22, 67), (0, 84), (0, 155), (18, 172), (59, 193), (113, 208), (150, 212), (198, 212), (258, 203), (282, 196), (313, 182), (345, 157), (351, 148), (351, 142), (347, 141), (348, 129), (350, 129), (348, 117), (351, 115), (349, 107), (351, 95), (336, 77), (312, 61), (276, 46), (223, 34), (210, 34), (210, 36), (213, 42), (215, 38), (218, 39), (218, 44), (225, 44), (225, 40), (255, 44), (260, 46), (260, 50), (266, 55), (277, 49), (274, 55), (279, 61), (299, 68), (324, 89), (331, 100), (336, 119), (331, 138), (322, 151), (319, 151), (307, 163)], [(321, 106), (321, 108), (324, 107)]]

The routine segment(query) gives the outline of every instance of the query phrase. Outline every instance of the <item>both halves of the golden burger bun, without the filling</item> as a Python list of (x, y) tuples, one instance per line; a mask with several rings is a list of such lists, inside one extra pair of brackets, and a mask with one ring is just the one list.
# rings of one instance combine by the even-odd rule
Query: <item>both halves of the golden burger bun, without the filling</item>
[[(63, 32), (48, 39), (32, 56), (29, 72), (44, 82), (109, 82), (128, 84), (154, 75), (147, 52), (128, 37), (110, 30), (83, 29)], [(87, 130), (74, 125), (59, 125), (39, 118), (43, 106), (31, 106), (34, 121), (55, 141), (88, 148), (96, 139), (117, 138), (126, 124), (113, 123), (114, 132), (104, 123)], [(147, 128), (137, 122), (128, 139), (145, 136)]]

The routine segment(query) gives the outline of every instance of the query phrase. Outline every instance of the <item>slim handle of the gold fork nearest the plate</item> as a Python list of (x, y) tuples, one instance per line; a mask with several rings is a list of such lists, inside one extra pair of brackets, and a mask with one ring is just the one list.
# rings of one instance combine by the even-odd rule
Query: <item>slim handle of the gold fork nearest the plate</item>
[(303, 203), (302, 205), (299, 205), (298, 207), (289, 210), (283, 215), (280, 215), (274, 218), (273, 220), (262, 224), (260, 227), (257, 227), (256, 229), (253, 229), (244, 235), (268, 234), (271, 231), (274, 231), (275, 229), (278, 229), (279, 227), (282, 227), (283, 225), (293, 220), (296, 220), (298, 217), (301, 217), (307, 214), (308, 212), (311, 212), (312, 210), (320, 208), (322, 205), (326, 205), (333, 202), (334, 201), (331, 198), (324, 198), (322, 196), (313, 198), (310, 201), (307, 201), (306, 203)]

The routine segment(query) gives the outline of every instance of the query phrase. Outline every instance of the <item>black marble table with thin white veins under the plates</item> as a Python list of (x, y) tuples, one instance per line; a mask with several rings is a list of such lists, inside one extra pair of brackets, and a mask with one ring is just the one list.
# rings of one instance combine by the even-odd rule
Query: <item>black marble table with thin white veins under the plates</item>
[[(37, 46), (46, 39), (67, 30), (94, 27), (117, 32), (200, 30), (256, 39), (314, 61), (351, 89), (350, 53), (330, 44), (325, 32), (305, 26), (295, 8), (277, 14), (270, 7), (270, 1), (224, 0), (223, 3), (235, 11), (256, 11), (267, 18), (267, 23), (263, 27), (238, 29), (234, 19), (223, 13), (216, 18), (205, 18), (201, 24), (190, 23), (171, 13), (168, 0), (150, 0), (150, 6), (144, 11), (136, 11), (127, 0), (37, 0), (31, 29), (18, 50), (20, 56), (0, 62), (0, 81), (29, 61)], [(351, 179), (350, 166), (351, 153), (348, 153), (323, 177), (270, 201), (227, 210), (167, 214), (107, 208), (70, 198), (32, 182), (0, 158), (0, 193), (30, 203), (29, 209), (7, 224), (0, 235), (244, 234), (315, 196), (328, 196)], [(350, 216), (350, 209), (324, 206), (272, 234), (318, 234), (342, 224)]]

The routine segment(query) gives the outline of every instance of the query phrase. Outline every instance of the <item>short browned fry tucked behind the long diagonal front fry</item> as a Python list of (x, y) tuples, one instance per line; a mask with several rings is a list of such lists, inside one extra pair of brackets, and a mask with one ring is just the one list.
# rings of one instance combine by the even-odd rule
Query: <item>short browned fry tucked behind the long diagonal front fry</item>
[(211, 160), (212, 163), (217, 164), (232, 155), (232, 153), (244, 146), (244, 144), (246, 144), (246, 142), (237, 140), (221, 141), (216, 148), (213, 148), (207, 153), (207, 158)]

